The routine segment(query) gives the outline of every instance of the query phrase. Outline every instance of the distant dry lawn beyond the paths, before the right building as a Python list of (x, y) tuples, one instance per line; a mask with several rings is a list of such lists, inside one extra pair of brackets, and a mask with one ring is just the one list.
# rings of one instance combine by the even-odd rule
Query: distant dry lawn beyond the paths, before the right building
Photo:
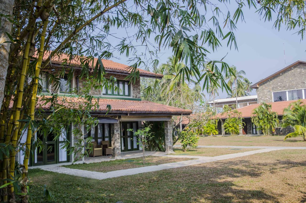
[[(278, 147), (306, 147), (306, 141), (301, 137), (284, 141), (285, 136), (228, 136), (228, 137), (200, 137), (198, 145), (234, 145), (234, 146), (278, 146)], [(177, 145), (180, 143), (177, 142)]]

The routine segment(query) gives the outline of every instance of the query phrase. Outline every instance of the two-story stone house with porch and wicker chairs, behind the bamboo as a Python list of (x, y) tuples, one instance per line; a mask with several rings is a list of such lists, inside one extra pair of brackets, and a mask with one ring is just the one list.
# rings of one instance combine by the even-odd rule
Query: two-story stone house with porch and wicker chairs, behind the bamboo
[[(44, 59), (49, 57), (45, 54)], [(84, 102), (81, 95), (71, 95), (73, 89), (82, 89), (84, 85), (84, 79), (80, 78), (80, 74), (77, 71), (81, 67), (80, 60), (77, 58), (72, 60), (68, 64), (63, 64), (67, 60), (67, 56), (62, 55), (60, 57), (55, 56), (51, 59), (50, 66), (44, 71), (54, 71), (58, 68), (74, 68), (74, 75), (72, 80), (68, 80), (68, 75), (65, 74), (59, 78), (60, 85), (57, 89), (54, 85), (50, 84), (46, 72), (43, 71), (41, 75), (41, 86), (43, 87), (43, 93), (48, 95), (50, 93), (58, 93), (58, 101), (63, 98), (69, 99), (75, 103)], [(97, 63), (97, 60), (94, 60)], [(140, 80), (136, 82), (130, 82), (126, 80), (126, 76), (130, 74), (129, 66), (116, 63), (111, 60), (102, 60), (103, 66), (106, 71), (106, 78), (114, 76), (117, 79), (117, 87), (112, 89), (91, 89), (90, 94), (99, 98), (99, 109), (92, 111), (92, 116), (98, 118), (98, 124), (92, 126), (89, 132), (85, 132), (82, 139), (86, 139), (88, 136), (92, 137), (98, 145), (101, 141), (108, 141), (112, 147), (113, 158), (120, 158), (121, 152), (125, 151), (137, 151), (141, 149), (141, 145), (137, 144), (136, 136), (133, 132), (128, 131), (132, 128), (134, 131), (141, 128), (142, 121), (164, 121), (165, 123), (165, 150), (166, 153), (173, 153), (173, 140), (172, 140), (172, 116), (189, 115), (192, 113), (187, 109), (175, 108), (167, 105), (162, 105), (150, 101), (141, 101), (140, 98)], [(162, 79), (163, 75), (138, 69), (140, 77)], [(81, 94), (81, 93), (80, 93)], [(38, 96), (38, 106), (41, 109), (48, 111), (50, 105), (44, 104), (44, 101), (40, 101)], [(107, 105), (111, 105), (111, 110), (107, 112)], [(107, 115), (106, 115), (107, 112)], [(33, 149), (33, 156), (30, 158), (30, 166), (40, 166), (47, 164), (58, 163), (72, 163), (73, 160), (77, 160), (79, 163), (84, 162), (84, 157), (79, 158), (79, 155), (73, 153), (68, 155), (66, 149), (62, 149), (61, 144), (65, 140), (69, 140), (70, 147), (76, 143), (76, 138), (72, 133), (72, 128), (75, 128), (73, 124), (67, 127), (62, 132), (62, 136), (59, 140), (53, 140), (52, 133), (47, 138), (35, 134), (35, 140), (37, 137), (42, 140), (45, 147), (43, 151)], [(26, 132), (26, 129), (25, 129)], [(78, 137), (79, 139), (80, 137)], [(21, 146), (25, 142), (26, 136), (21, 138)], [(48, 149), (48, 150), (47, 150)], [(50, 149), (50, 150), (49, 150)], [(24, 152), (21, 150), (18, 154), (18, 161), (22, 162)]]

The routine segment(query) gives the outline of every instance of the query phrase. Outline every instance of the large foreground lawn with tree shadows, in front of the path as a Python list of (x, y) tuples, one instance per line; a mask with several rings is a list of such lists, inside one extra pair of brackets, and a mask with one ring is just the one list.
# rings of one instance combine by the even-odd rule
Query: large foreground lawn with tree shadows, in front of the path
[[(306, 150), (277, 150), (105, 180), (29, 170), (31, 202), (205, 202), (306, 201)], [(34, 186), (37, 185), (37, 186)]]

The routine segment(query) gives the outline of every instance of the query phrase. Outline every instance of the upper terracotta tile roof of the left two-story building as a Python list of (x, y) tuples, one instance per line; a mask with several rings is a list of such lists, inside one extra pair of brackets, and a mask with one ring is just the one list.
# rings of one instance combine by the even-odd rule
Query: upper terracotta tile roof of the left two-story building
[[(37, 56), (37, 52), (34, 54), (34, 57)], [(43, 60), (46, 60), (50, 56), (50, 52), (45, 52), (43, 56)], [(61, 56), (54, 56), (51, 59), (51, 64), (56, 63), (56, 64), (61, 64), (63, 62), (67, 61), (67, 64), (72, 65), (72, 66), (80, 66), (81, 65), (81, 60), (79, 56), (76, 56), (74, 59), (69, 60), (69, 56), (66, 54), (62, 54)], [(97, 58), (94, 58), (94, 64), (96, 64), (98, 61)], [(105, 68), (106, 72), (111, 72), (111, 73), (126, 73), (130, 74), (130, 67), (128, 65), (122, 64), (122, 63), (117, 63), (111, 60), (105, 60), (102, 59), (103, 66)], [(140, 76), (142, 77), (153, 77), (153, 78), (158, 78), (161, 79), (163, 77), (162, 74), (157, 74), (157, 73), (152, 73), (150, 71), (145, 71), (143, 69), (137, 69), (139, 71)]]

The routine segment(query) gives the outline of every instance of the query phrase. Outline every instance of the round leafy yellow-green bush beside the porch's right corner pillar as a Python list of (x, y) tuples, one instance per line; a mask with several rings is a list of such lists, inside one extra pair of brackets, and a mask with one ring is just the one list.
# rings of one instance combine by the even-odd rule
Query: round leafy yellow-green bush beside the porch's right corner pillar
[(183, 150), (187, 151), (188, 146), (191, 148), (198, 146), (199, 136), (187, 126), (179, 133), (178, 140), (181, 142)]

